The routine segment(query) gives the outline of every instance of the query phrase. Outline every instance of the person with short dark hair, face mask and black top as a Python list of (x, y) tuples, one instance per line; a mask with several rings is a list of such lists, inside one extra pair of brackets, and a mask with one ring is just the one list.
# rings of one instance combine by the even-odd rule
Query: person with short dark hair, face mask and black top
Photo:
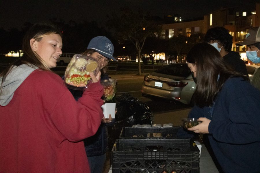
[(229, 30), (223, 27), (211, 28), (207, 31), (204, 41), (218, 50), (226, 65), (248, 77), (246, 64), (240, 59), (239, 53), (231, 51), (232, 35)]

